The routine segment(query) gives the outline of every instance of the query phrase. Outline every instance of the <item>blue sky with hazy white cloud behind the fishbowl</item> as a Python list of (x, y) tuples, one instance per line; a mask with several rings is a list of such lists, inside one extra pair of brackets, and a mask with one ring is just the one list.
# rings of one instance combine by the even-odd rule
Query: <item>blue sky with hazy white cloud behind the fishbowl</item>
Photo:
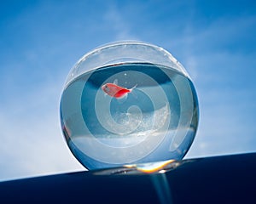
[(84, 169), (61, 134), (68, 71), (116, 40), (166, 48), (200, 103), (186, 158), (256, 151), (256, 3), (244, 1), (2, 1), (0, 181)]

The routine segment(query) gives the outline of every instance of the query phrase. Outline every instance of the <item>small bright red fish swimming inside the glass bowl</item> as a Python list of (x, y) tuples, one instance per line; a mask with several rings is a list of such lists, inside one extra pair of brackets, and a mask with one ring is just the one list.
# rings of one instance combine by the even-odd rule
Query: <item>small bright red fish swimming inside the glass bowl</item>
[(137, 85), (133, 88), (123, 88), (118, 86), (117, 81), (115, 80), (113, 83), (104, 84), (102, 86), (102, 90), (111, 97), (114, 97), (116, 99), (122, 99), (127, 96), (127, 94), (131, 93), (132, 90), (136, 87)]

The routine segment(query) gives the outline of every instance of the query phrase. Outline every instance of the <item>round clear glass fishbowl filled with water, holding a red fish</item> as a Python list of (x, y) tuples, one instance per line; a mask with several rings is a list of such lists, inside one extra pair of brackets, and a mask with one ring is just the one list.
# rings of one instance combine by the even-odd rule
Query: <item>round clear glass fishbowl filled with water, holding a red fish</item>
[(67, 145), (89, 170), (181, 160), (199, 116), (183, 65), (163, 48), (129, 41), (79, 59), (60, 111)]

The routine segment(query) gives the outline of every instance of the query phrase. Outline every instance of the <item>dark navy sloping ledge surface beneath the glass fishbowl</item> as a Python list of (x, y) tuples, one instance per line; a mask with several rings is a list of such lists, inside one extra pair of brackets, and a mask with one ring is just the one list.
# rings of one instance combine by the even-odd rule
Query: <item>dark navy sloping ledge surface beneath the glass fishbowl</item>
[(256, 203), (256, 153), (179, 161), (160, 173), (64, 173), (0, 183), (0, 203)]

